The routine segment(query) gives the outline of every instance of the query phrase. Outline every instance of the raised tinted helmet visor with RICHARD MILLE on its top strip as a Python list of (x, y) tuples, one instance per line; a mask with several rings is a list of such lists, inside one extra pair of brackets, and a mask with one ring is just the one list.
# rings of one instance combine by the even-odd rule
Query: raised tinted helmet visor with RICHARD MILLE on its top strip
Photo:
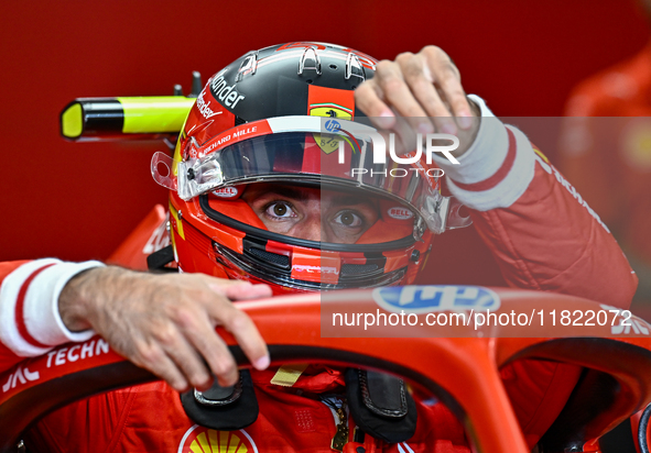
[[(410, 164), (378, 161), (373, 150), (377, 139), (373, 137), (379, 135), (375, 130), (340, 120), (334, 132), (327, 132), (327, 122), (314, 117), (275, 118), (235, 128), (202, 145), (189, 139), (185, 159), (176, 163), (176, 178), (169, 177), (164, 185), (177, 190), (184, 200), (251, 183), (352, 190), (369, 198), (379, 196), (393, 200), (393, 206), (388, 208), (392, 211), (383, 214), (395, 220), (410, 216), (414, 224), (421, 220), (433, 232), (445, 230), (438, 168), (427, 167), (420, 161)], [(386, 157), (383, 152), (380, 154)], [(152, 173), (161, 183), (154, 162)], [(357, 220), (344, 213), (339, 223), (351, 226)], [(414, 234), (419, 237), (415, 230)]]

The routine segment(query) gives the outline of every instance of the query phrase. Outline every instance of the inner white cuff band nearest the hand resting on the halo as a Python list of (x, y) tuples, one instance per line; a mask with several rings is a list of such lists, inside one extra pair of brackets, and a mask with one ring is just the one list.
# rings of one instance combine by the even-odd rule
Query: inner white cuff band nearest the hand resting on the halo
[(66, 283), (75, 275), (101, 263), (59, 263), (39, 274), (28, 289), (24, 302), (25, 327), (30, 335), (40, 343), (51, 346), (69, 341), (85, 341), (93, 331), (70, 332), (58, 313), (58, 296)]

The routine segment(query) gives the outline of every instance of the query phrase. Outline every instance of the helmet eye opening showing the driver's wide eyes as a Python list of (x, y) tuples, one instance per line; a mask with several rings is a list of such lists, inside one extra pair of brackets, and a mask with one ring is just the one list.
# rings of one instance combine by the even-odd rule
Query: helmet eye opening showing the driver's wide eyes
[(225, 198), (221, 191), (208, 194), (210, 209), (206, 214), (215, 217), (214, 212), (218, 212), (221, 223), (226, 216), (280, 234), (285, 236), (285, 243), (290, 237), (312, 241), (312, 247), (323, 243), (392, 243), (412, 237), (416, 220), (404, 203), (360, 189), (339, 190), (332, 185), (257, 183), (236, 186), (230, 192), (238, 198)]

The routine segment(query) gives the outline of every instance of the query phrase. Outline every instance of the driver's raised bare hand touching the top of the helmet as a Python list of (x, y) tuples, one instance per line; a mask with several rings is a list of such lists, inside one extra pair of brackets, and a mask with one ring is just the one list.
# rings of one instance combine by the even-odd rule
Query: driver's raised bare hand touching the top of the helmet
[(466, 97), (459, 70), (436, 46), (381, 60), (375, 77), (355, 90), (355, 104), (377, 128), (395, 131), (402, 140), (400, 118), (406, 119), (413, 133), (457, 135), (462, 142), (453, 153), (457, 156), (474, 142), (479, 125), (473, 119), (479, 111)]

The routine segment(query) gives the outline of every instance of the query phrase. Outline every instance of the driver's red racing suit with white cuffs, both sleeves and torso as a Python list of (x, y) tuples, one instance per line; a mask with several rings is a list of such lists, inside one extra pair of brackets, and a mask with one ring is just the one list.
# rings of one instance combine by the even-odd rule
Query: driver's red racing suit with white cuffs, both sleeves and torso
[[(508, 284), (628, 307), (637, 277), (606, 225), (522, 132), (501, 124), (479, 98), (473, 100), (486, 117), (477, 140), (459, 158), (462, 165), (445, 158), (438, 164), (452, 194), (471, 209), (475, 228)], [(68, 332), (56, 303), (67, 279), (97, 265), (55, 259), (0, 264), (0, 371), (93, 334)], [(502, 369), (530, 446), (556, 418), (578, 374), (575, 366), (527, 361)], [(159, 382), (72, 404), (42, 419), (25, 442), (36, 451), (56, 452), (332, 452), (339, 420), (330, 407), (300, 396), (297, 389), (335, 393), (343, 386), (341, 373), (311, 366), (293, 387), (271, 384), (273, 375), (252, 372), (260, 415), (239, 431), (195, 426), (178, 395)], [(464, 429), (452, 413), (433, 399), (414, 397), (415, 435), (391, 445), (367, 435), (366, 451), (469, 452)]]

